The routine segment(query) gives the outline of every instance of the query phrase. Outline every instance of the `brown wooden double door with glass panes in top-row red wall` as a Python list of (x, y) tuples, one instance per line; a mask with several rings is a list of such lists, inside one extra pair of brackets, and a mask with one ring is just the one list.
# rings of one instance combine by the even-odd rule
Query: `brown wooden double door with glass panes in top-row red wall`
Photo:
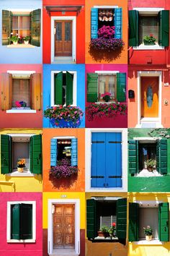
[(72, 21), (55, 21), (55, 56), (72, 56)]

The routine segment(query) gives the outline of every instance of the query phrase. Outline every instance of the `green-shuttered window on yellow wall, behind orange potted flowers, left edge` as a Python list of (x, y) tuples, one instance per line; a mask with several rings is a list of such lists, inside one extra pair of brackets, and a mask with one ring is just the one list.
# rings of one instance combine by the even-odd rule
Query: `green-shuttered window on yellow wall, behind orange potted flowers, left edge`
[[(41, 174), (41, 144), (41, 135), (1, 135), (1, 174)], [(26, 161), (23, 173), (17, 171), (19, 158)]]

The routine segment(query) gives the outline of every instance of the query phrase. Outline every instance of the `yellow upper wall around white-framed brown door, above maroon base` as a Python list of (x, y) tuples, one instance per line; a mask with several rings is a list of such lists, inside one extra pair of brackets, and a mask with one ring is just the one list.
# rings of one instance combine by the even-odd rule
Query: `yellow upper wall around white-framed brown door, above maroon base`
[[(66, 196), (66, 197), (63, 197)], [(48, 200), (49, 199), (79, 199), (80, 200), (80, 229), (85, 229), (85, 192), (43, 192), (42, 209), (43, 221), (42, 229), (48, 229)]]

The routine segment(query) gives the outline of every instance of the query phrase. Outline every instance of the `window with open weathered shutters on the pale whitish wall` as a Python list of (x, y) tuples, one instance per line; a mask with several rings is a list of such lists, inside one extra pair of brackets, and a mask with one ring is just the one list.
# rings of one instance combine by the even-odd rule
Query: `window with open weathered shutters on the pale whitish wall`
[(20, 37), (31, 36), (32, 46), (40, 46), (41, 10), (32, 12), (10, 12), (2, 10), (2, 45), (10, 44), (11, 33)]

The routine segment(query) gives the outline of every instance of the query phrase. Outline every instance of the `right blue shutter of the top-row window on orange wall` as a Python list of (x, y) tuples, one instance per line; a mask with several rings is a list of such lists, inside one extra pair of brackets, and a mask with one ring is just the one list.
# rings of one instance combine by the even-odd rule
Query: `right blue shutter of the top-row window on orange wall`
[(122, 8), (115, 9), (115, 38), (122, 38)]

